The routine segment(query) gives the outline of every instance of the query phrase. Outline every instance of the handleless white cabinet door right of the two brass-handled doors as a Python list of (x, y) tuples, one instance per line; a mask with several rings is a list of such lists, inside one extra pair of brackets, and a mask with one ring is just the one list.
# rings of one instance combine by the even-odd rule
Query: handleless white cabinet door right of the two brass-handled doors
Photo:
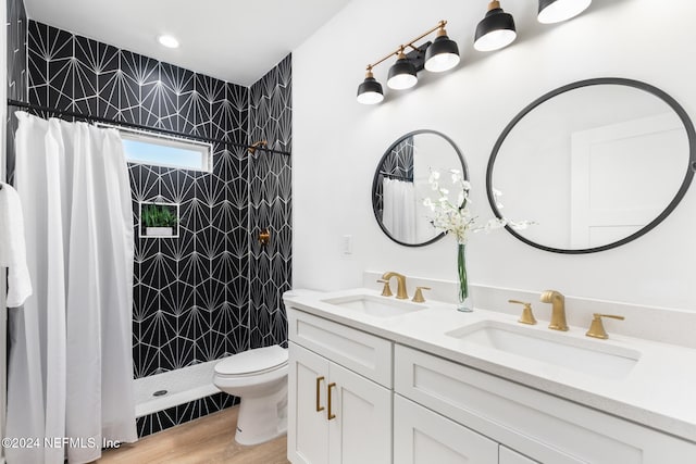
[(394, 462), (496, 464), (498, 443), (395, 394)]

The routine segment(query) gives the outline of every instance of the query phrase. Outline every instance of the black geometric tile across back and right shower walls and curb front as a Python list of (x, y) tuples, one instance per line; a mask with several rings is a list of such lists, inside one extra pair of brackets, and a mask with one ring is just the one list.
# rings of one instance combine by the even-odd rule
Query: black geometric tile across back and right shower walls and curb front
[[(245, 145), (256, 130), (273, 148), (291, 148), (289, 57), (249, 89), (33, 21), (27, 47), (32, 103)], [(275, 120), (263, 122), (269, 116)], [(182, 213), (177, 239), (136, 237), (136, 378), (286, 341), (278, 302), (290, 286), (289, 156), (257, 151), (250, 158), (224, 143), (213, 156), (212, 174), (129, 164), (136, 230), (139, 201), (177, 202)], [(278, 233), (273, 253), (262, 259), (252, 250), (253, 225), (261, 222), (251, 211), (265, 204), (284, 208), (263, 213), (273, 222), (262, 223)], [(273, 304), (250, 304), (251, 275)], [(141, 417), (138, 430), (157, 431), (236, 401), (215, 398)]]

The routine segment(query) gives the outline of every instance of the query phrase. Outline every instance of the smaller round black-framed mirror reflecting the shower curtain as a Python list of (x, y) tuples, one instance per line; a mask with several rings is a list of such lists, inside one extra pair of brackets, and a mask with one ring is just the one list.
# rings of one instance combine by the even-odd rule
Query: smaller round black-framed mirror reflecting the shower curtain
[[(431, 225), (431, 211), (423, 201), (433, 193), (431, 172), (452, 170), (469, 179), (459, 148), (444, 134), (414, 130), (391, 143), (377, 163), (372, 181), (372, 209), (387, 237), (407, 247), (422, 247), (443, 237)], [(449, 177), (443, 176), (440, 186), (447, 187)], [(449, 190), (456, 197), (453, 184)]]

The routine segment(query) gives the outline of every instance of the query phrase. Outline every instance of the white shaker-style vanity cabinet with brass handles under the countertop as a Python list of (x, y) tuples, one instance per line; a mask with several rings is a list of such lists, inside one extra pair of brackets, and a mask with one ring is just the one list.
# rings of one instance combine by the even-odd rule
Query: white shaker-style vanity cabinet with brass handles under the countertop
[(291, 306), (288, 325), (294, 464), (696, 463), (691, 441), (399, 338)]

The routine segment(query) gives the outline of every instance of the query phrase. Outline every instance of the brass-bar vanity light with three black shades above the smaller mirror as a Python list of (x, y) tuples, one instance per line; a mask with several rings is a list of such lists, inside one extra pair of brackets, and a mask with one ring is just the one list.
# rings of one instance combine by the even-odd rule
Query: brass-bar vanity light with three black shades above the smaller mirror
[[(426, 68), (438, 73), (459, 64), (459, 48), (457, 43), (447, 37), (445, 30), (446, 21), (440, 21), (437, 26), (421, 34), (406, 45), (399, 46), (395, 51), (383, 59), (368, 64), (365, 79), (358, 86), (358, 102), (363, 104), (380, 103), (384, 99), (382, 85), (374, 78), (372, 68), (387, 59), (396, 55), (397, 61), (389, 67), (387, 87), (402, 90), (413, 87), (418, 83), (418, 72)], [(437, 37), (433, 42), (415, 46), (415, 42), (437, 30)], [(407, 49), (412, 49), (408, 53)]]

